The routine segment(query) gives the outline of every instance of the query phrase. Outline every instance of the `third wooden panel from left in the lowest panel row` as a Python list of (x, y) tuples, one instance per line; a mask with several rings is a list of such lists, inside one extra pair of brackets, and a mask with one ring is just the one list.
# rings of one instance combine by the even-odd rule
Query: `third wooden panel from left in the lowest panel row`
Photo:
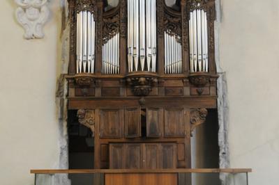
[(156, 143), (146, 143), (143, 147), (143, 167), (156, 169), (159, 168), (159, 148)]

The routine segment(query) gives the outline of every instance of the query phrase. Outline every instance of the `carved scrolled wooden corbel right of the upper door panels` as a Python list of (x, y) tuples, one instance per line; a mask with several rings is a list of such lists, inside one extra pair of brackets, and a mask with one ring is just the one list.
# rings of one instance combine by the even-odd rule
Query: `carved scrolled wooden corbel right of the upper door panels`
[(193, 136), (193, 131), (195, 127), (205, 122), (206, 115), (206, 108), (197, 108), (193, 111), (190, 111), (191, 136)]

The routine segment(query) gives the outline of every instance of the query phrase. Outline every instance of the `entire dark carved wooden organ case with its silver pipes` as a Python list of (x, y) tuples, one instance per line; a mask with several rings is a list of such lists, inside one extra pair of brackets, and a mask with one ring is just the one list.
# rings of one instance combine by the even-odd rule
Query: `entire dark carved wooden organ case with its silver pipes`
[(216, 108), (215, 2), (68, 0), (68, 110), (94, 167), (191, 168), (191, 132)]

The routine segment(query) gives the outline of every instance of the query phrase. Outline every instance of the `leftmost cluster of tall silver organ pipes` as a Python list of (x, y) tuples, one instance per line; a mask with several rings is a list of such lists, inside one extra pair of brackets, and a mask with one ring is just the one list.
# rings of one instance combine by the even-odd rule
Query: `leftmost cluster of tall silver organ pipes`
[(95, 21), (93, 13), (77, 13), (76, 67), (78, 73), (94, 73), (95, 65)]

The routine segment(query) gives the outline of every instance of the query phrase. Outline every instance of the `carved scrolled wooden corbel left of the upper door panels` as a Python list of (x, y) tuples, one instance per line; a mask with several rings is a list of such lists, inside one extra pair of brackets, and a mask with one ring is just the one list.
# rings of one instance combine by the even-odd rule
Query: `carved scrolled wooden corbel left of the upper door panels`
[(80, 109), (77, 111), (77, 118), (80, 124), (88, 127), (92, 131), (92, 137), (95, 136), (95, 111)]

